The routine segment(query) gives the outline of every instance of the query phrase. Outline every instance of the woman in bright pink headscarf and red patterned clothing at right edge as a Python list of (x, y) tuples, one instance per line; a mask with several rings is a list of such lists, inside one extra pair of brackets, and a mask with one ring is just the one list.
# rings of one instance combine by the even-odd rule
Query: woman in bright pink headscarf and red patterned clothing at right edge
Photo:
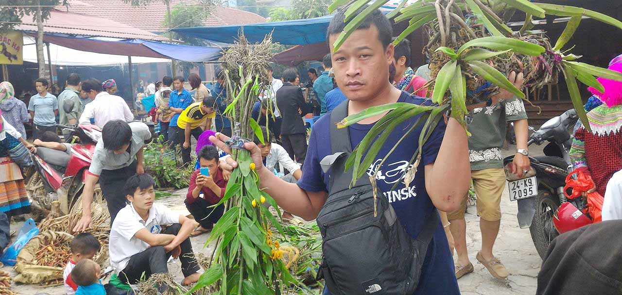
[[(611, 60), (609, 70), (622, 73), (622, 55)], [(570, 148), (570, 160), (592, 176), (594, 187), (588, 193), (598, 191), (605, 196), (609, 179), (622, 170), (622, 82), (598, 78), (605, 93), (590, 87), (588, 90), (603, 102), (587, 113), (592, 132), (583, 125), (575, 132)]]

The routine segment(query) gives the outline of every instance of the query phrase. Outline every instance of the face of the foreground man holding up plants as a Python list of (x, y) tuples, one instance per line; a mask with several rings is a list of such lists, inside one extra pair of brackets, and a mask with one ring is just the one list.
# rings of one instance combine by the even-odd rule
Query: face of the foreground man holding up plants
[[(330, 35), (330, 50), (338, 34)], [(393, 45), (384, 48), (378, 39), (378, 29), (355, 30), (331, 55), (335, 81), (351, 101), (374, 99), (389, 85), (389, 65), (393, 61)]]

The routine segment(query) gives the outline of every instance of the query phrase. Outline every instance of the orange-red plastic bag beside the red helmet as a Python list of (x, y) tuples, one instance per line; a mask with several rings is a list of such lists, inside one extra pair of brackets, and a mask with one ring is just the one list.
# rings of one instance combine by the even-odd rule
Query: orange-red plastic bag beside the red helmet
[[(575, 169), (566, 177), (564, 194), (566, 194), (569, 199), (582, 196), (583, 193), (593, 188), (594, 182), (592, 181), (592, 176), (586, 175), (583, 171), (582, 168)], [(572, 178), (572, 175), (575, 174), (577, 175), (577, 179)], [(568, 188), (572, 188), (572, 194), (567, 193)], [(587, 194), (587, 208), (583, 213), (587, 213), (592, 217), (592, 223), (601, 222), (603, 220), (603, 202), (605, 202), (605, 198), (599, 193), (593, 192)]]

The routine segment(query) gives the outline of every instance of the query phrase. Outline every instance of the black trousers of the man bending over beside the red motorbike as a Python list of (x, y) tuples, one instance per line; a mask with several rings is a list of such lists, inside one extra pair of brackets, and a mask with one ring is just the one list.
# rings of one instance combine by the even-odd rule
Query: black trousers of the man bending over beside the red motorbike
[(108, 212), (110, 212), (110, 225), (113, 224), (114, 217), (127, 204), (126, 194), (123, 191), (125, 182), (132, 175), (136, 174), (136, 161), (131, 165), (117, 170), (102, 170), (100, 175), (101, 193), (108, 202)]

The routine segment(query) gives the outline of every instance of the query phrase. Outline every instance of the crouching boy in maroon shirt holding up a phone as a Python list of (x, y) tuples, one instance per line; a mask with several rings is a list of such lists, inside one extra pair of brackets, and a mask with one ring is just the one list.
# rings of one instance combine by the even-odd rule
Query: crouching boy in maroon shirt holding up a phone
[(218, 150), (216, 147), (206, 145), (200, 150), (197, 157), (201, 168), (208, 168), (210, 173), (203, 175), (201, 168), (199, 168), (190, 176), (190, 186), (185, 204), (188, 211), (200, 224), (192, 232), (192, 237), (210, 231), (213, 224), (223, 216), (225, 206), (218, 206), (216, 209), (208, 207), (218, 204), (220, 199), (225, 196), (227, 186), (227, 182), (223, 178), (223, 171), (218, 166)]

